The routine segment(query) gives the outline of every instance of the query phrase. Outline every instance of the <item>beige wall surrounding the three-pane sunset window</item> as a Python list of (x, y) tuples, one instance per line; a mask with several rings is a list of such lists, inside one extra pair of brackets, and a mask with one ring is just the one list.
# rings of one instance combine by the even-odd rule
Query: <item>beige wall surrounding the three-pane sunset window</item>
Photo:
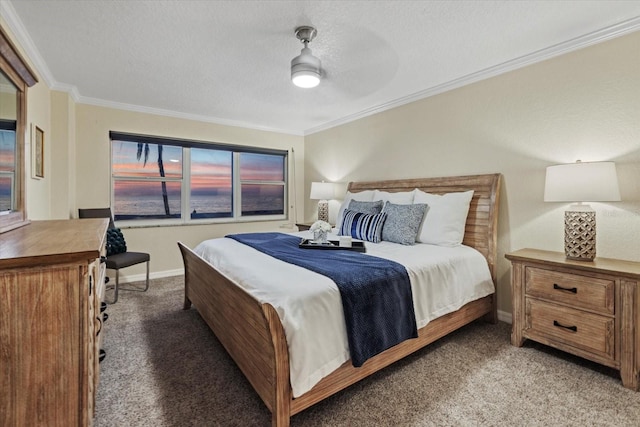
[[(290, 186), (289, 197), (293, 200), (293, 191), (298, 200), (303, 197), (303, 162), (304, 145), (302, 136), (265, 132), (212, 123), (196, 122), (151, 114), (116, 110), (112, 108), (77, 104), (76, 118), (76, 188), (77, 208), (105, 207), (110, 205), (111, 183), (110, 166), (111, 151), (109, 131), (129, 132), (136, 134), (176, 137), (198, 141), (211, 141), (251, 145), (295, 151), (296, 183)], [(291, 162), (293, 163), (293, 162)], [(293, 165), (290, 168), (293, 173)], [(290, 204), (291, 205), (291, 204)], [(298, 208), (303, 218), (302, 208)], [(73, 216), (77, 216), (74, 210)], [(178, 251), (177, 241), (188, 246), (195, 246), (206, 238), (221, 237), (227, 233), (244, 231), (282, 230), (293, 224), (291, 220), (269, 221), (242, 224), (191, 225), (177, 227), (131, 228), (123, 230), (127, 247), (131, 250), (149, 252), (151, 254), (151, 271), (157, 274), (170, 274), (182, 268), (182, 259)], [(126, 275), (138, 275), (143, 267), (131, 267), (123, 270)], [(125, 280), (127, 280), (125, 276)]]

